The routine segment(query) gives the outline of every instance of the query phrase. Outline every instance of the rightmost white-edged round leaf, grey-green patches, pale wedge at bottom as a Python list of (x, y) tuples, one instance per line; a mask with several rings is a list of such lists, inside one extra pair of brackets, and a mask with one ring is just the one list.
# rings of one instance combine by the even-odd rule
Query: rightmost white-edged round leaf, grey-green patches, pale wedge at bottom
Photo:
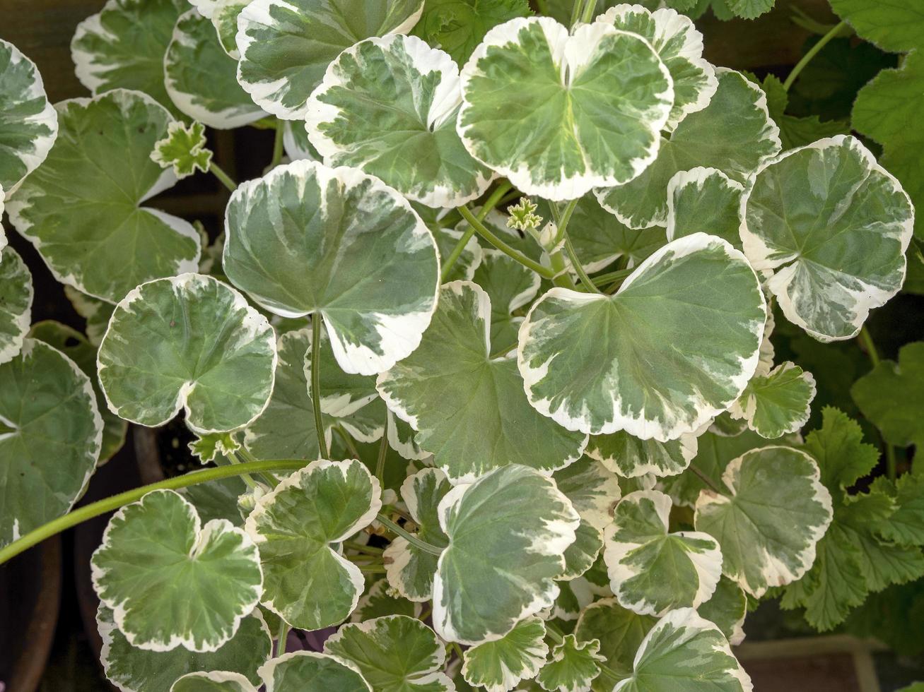
[(854, 137), (764, 163), (741, 199), (741, 240), (784, 316), (820, 341), (853, 339), (905, 280), (914, 208)]

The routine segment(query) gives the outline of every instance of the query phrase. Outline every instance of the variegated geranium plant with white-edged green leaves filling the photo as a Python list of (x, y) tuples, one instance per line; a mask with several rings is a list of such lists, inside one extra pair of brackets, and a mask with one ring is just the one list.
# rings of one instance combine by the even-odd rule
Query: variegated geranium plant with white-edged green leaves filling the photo
[[(0, 561), (117, 510), (91, 560), (116, 686), (743, 691), (760, 599), (826, 630), (924, 574), (894, 456), (924, 350), (880, 363), (864, 328), (924, 180), (870, 104), (918, 53), (857, 101), (904, 186), (784, 113), (826, 43), (912, 50), (919, 17), (833, 1), (781, 82), (703, 57), (694, 19), (760, 0), (190, 3), (109, 0), (71, 44), (92, 96), (54, 107), (0, 42), (10, 225), (88, 325), (30, 325), (3, 247)], [(207, 133), (245, 125), (275, 146), (237, 185)], [(211, 239), (151, 200), (204, 173)], [(834, 408), (803, 435), (821, 381), (783, 325), (874, 358), (862, 491), (879, 452)], [(72, 508), (129, 423), (179, 415), (207, 468)], [(334, 629), (287, 653), (292, 628)]]

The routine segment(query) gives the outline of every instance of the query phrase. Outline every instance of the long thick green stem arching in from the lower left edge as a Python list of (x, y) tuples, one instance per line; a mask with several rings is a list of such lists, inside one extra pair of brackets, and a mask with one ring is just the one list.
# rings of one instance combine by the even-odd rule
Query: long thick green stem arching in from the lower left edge
[(208, 483), (209, 481), (231, 478), (245, 473), (260, 473), (261, 471), (298, 471), (298, 469), (304, 468), (309, 463), (310, 462), (306, 459), (280, 459), (254, 461), (244, 464), (235, 464), (233, 466), (216, 466), (213, 469), (192, 471), (182, 476), (176, 476), (176, 478), (168, 478), (157, 483), (142, 485), (140, 488), (127, 490), (125, 493), (106, 497), (90, 505), (74, 509), (63, 517), (52, 519), (38, 529), (30, 531), (25, 536), (10, 543), (5, 548), (0, 549), (0, 565), (3, 565), (7, 560), (19, 555), (33, 545), (42, 543), (46, 538), (51, 538), (56, 533), (65, 531), (72, 526), (77, 526), (80, 522), (86, 521), (87, 519), (93, 519), (106, 512), (111, 512), (123, 505), (136, 502), (153, 490), (176, 490), (177, 488), (185, 488), (189, 485)]

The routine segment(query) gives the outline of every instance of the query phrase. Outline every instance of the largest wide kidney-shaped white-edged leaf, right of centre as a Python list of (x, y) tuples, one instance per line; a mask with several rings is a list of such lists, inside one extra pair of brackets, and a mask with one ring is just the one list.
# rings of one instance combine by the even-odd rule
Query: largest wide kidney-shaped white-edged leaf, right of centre
[(678, 238), (613, 296), (553, 288), (520, 327), (529, 402), (569, 430), (659, 442), (699, 430), (758, 363), (766, 309), (754, 270), (721, 238)]

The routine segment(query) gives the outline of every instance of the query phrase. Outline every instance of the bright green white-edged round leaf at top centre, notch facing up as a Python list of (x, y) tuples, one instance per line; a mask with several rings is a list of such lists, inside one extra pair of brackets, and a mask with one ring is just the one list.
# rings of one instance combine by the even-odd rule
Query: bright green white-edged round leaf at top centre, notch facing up
[(674, 103), (640, 36), (552, 18), (494, 27), (462, 68), (468, 152), (527, 195), (555, 201), (622, 185), (654, 161)]

